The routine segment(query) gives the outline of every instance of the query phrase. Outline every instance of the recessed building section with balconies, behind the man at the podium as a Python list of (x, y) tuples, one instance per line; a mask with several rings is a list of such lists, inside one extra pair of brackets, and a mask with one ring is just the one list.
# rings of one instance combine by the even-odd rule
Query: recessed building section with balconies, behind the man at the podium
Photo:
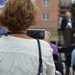
[(59, 0), (59, 29), (61, 28), (61, 20), (65, 17), (67, 11), (71, 12), (72, 0)]

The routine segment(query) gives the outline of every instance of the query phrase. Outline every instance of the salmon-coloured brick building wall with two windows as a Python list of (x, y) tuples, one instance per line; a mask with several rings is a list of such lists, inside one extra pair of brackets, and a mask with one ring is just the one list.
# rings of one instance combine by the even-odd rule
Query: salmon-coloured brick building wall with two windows
[(57, 35), (58, 29), (58, 0), (36, 0), (39, 12), (36, 25), (31, 28), (46, 29), (52, 35)]

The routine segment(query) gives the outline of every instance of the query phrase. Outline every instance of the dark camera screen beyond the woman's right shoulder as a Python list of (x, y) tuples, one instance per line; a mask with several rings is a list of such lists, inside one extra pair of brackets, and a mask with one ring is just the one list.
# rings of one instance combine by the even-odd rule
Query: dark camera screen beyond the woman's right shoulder
[(44, 39), (45, 36), (45, 30), (40, 30), (40, 29), (29, 29), (27, 30), (27, 35), (35, 38), (35, 39)]

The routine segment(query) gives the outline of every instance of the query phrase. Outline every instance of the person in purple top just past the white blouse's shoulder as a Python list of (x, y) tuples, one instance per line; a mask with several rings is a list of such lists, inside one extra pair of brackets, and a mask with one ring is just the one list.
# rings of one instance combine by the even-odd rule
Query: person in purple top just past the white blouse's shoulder
[(51, 43), (51, 34), (49, 31), (46, 31), (44, 40), (47, 41), (49, 45), (51, 46), (51, 48), (53, 49), (53, 54), (58, 54), (57, 46)]

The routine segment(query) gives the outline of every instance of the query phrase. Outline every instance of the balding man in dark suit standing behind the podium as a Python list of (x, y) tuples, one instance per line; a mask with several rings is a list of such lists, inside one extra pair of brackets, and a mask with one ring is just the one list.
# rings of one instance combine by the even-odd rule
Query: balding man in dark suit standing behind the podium
[(65, 28), (75, 28), (75, 19), (70, 12), (66, 12), (65, 18), (61, 21), (61, 29), (64, 31)]

